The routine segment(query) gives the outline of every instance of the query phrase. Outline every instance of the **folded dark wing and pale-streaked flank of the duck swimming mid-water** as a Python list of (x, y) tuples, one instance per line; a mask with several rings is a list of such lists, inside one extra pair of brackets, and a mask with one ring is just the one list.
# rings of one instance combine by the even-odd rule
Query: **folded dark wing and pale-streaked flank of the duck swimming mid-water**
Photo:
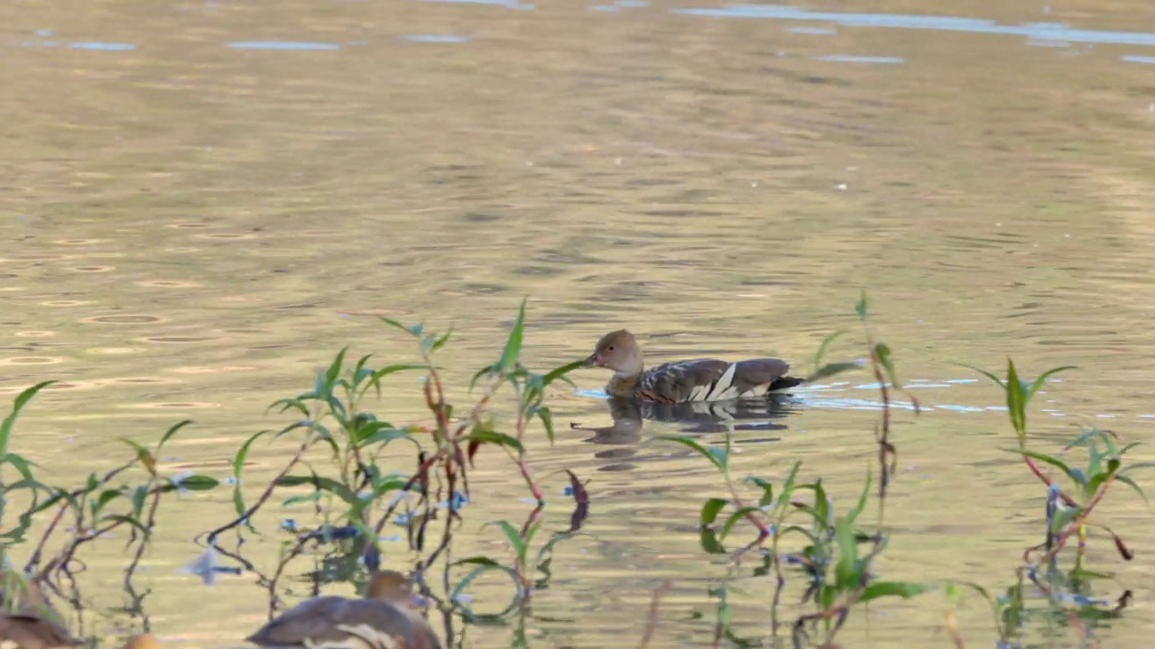
[(790, 365), (777, 358), (664, 363), (642, 375), (639, 394), (660, 403), (759, 397), (800, 383), (787, 376), (789, 371)]

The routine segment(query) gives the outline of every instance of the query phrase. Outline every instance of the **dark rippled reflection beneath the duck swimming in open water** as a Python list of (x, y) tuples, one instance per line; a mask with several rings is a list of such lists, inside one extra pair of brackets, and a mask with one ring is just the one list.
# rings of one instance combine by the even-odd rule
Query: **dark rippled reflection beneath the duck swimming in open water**
[[(602, 460), (626, 460), (638, 457), (638, 442), (642, 440), (642, 428), (646, 420), (672, 423), (679, 434), (705, 435), (708, 433), (731, 432), (766, 432), (788, 428), (784, 423), (787, 415), (795, 410), (795, 398), (789, 395), (773, 395), (754, 400), (725, 402), (687, 402), (687, 403), (649, 403), (629, 397), (610, 397), (610, 426), (583, 426), (572, 422), (573, 431), (586, 431), (594, 437), (583, 440), (590, 443), (613, 446), (594, 454)], [(665, 426), (663, 426), (664, 428)], [(778, 437), (740, 437), (733, 443), (761, 443), (778, 441)], [(608, 464), (602, 471), (625, 471), (633, 469), (628, 462)]]

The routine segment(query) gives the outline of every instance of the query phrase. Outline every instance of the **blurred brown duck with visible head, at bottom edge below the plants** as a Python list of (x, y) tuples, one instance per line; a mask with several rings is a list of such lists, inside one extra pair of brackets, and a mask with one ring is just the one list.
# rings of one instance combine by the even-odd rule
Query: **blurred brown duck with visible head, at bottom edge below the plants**
[(409, 577), (374, 573), (360, 599), (322, 595), (289, 609), (245, 640), (259, 647), (308, 649), (441, 649), (411, 607)]

